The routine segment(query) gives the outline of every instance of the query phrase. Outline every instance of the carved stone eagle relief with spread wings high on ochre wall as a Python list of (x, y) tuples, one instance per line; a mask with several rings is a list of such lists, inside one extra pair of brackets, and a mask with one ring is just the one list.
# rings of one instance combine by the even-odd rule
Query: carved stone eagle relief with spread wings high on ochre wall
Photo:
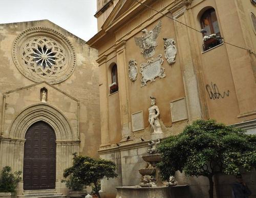
[(140, 53), (143, 54), (143, 57), (145, 59), (155, 55), (155, 48), (158, 45), (156, 39), (160, 33), (161, 27), (162, 27), (162, 22), (161, 20), (159, 20), (158, 24), (153, 30), (148, 32), (147, 29), (143, 29), (141, 31), (144, 33), (143, 36), (134, 37), (136, 46), (140, 47)]

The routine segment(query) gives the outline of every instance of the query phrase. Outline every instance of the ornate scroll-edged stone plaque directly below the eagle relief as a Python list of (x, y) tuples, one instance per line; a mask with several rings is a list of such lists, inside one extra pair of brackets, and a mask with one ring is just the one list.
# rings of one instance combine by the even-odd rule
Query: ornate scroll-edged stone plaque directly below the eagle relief
[(156, 77), (164, 78), (165, 72), (162, 67), (163, 59), (162, 54), (159, 54), (157, 58), (148, 60), (147, 63), (140, 64), (141, 86), (146, 85), (147, 81), (153, 82)]

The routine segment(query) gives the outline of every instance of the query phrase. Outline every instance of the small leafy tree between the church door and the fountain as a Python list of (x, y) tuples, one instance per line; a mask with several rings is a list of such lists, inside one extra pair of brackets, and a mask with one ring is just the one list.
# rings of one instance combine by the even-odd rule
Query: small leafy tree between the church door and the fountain
[(104, 159), (95, 160), (88, 156), (76, 156), (76, 153), (73, 156), (73, 165), (63, 173), (63, 176), (69, 179), (62, 182), (66, 182), (69, 188), (76, 184), (80, 187), (92, 186), (100, 198), (100, 180), (117, 177), (115, 163)]

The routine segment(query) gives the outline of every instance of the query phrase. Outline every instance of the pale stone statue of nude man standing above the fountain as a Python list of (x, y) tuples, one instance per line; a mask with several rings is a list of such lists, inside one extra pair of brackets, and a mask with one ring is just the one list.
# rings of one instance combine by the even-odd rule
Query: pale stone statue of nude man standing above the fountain
[(153, 129), (153, 133), (162, 133), (161, 125), (159, 122), (159, 115), (160, 111), (158, 106), (156, 105), (156, 98), (151, 98), (151, 107), (148, 108), (148, 122), (150, 122), (150, 125)]

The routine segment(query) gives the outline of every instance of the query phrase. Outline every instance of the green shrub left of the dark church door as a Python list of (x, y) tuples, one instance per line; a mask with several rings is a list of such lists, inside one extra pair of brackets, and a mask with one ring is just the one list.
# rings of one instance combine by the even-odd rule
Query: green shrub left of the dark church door
[(5, 166), (2, 168), (0, 175), (1, 198), (15, 196), (15, 188), (17, 187), (18, 183), (22, 180), (22, 177), (20, 177), (21, 174), (22, 171), (16, 171), (12, 173), (12, 168), (10, 166)]

